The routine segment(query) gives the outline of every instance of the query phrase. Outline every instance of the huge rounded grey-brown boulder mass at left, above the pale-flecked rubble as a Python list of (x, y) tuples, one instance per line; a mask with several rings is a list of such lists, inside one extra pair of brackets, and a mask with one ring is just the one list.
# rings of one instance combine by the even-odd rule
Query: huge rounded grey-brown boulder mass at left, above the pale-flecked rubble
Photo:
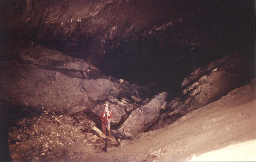
[(6, 100), (70, 114), (74, 107), (97, 105), (98, 100), (120, 94), (118, 84), (99, 78), (100, 71), (82, 59), (40, 45), (13, 49), (13, 53), (0, 62), (1, 97)]

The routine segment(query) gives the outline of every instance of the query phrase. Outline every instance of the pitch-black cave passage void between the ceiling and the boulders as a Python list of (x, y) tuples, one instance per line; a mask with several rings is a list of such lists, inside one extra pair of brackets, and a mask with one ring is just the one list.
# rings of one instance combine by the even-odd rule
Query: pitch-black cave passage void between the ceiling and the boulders
[[(57, 49), (72, 57), (90, 60), (84, 55), (88, 50), (84, 46), (66, 46), (64, 42), (41, 42), (46, 47)], [(81, 42), (80, 42), (81, 43)], [(230, 53), (255, 53), (255, 42), (251, 44), (236, 43), (227, 47), (201, 47), (193, 45), (170, 45), (159, 48), (155, 41), (124, 41), (117, 48), (104, 53), (101, 59), (94, 60), (95, 66), (108, 76), (127, 80), (131, 84), (145, 86), (151, 84), (152, 96), (162, 91), (170, 94), (169, 98), (180, 94), (184, 78), (194, 69), (214, 62)], [(242, 52), (241, 52), (242, 51)], [(97, 56), (96, 56), (97, 57)], [(254, 65), (254, 56), (251, 55)], [(249, 75), (253, 77), (254, 73)]]

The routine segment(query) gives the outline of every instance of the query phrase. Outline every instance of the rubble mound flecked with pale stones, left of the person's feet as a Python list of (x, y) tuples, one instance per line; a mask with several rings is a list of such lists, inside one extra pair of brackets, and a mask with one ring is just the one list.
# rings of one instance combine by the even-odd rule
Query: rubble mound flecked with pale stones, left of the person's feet
[(14, 161), (72, 161), (90, 152), (118, 146), (89, 119), (41, 114), (23, 118), (9, 130), (9, 150)]

